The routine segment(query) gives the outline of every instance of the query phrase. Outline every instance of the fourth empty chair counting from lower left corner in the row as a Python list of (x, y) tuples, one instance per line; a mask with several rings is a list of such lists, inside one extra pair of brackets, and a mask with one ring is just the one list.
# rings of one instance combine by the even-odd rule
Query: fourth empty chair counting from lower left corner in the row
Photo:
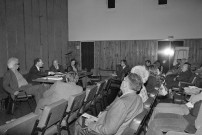
[[(97, 90), (98, 90), (98, 86), (97, 85), (87, 87), (87, 89), (86, 89), (86, 98), (84, 100), (84, 105), (83, 105), (83, 108), (82, 108), (82, 113), (91, 111), (90, 110), (90, 106), (92, 105), (92, 102), (93, 102), (93, 100), (95, 98)], [(92, 112), (90, 114), (92, 114)]]

